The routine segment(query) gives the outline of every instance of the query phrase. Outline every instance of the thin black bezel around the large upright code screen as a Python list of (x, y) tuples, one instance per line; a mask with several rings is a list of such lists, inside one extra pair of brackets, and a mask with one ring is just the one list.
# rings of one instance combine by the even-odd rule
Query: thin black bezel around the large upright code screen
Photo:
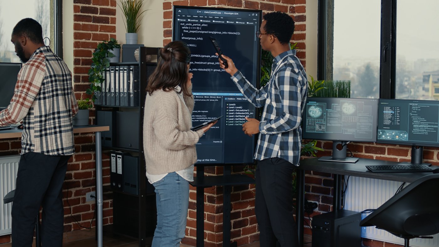
[[(200, 6), (179, 6), (179, 5), (173, 5), (173, 11), (172, 11), (172, 41), (175, 41), (175, 24), (176, 24), (176, 8), (182, 8), (182, 9), (200, 9), (200, 10), (219, 10), (219, 11), (237, 11), (237, 12), (257, 12), (259, 14), (259, 25), (261, 25), (262, 23), (262, 10), (254, 10), (254, 9), (236, 9), (236, 8), (223, 8), (223, 7), (200, 7)], [(209, 40), (210, 43), (210, 40)], [(255, 86), (256, 89), (260, 89), (261, 85), (260, 85), (260, 81), (261, 81), (261, 73), (260, 73), (260, 68), (261, 68), (261, 44), (259, 42), (256, 42), (257, 44), (257, 57), (259, 57), (259, 59), (256, 59), (256, 68), (259, 68), (258, 72), (256, 73), (256, 83)], [(258, 118), (259, 116), (259, 107), (255, 107), (255, 118)], [(249, 165), (253, 165), (256, 164), (256, 160), (254, 159), (254, 154), (256, 152), (256, 144), (258, 141), (258, 136), (254, 137), (254, 143), (253, 143), (253, 162), (252, 163), (207, 163), (207, 164), (195, 164), (195, 165), (200, 165), (200, 166), (216, 166), (216, 165), (242, 165), (242, 164), (249, 164)]]

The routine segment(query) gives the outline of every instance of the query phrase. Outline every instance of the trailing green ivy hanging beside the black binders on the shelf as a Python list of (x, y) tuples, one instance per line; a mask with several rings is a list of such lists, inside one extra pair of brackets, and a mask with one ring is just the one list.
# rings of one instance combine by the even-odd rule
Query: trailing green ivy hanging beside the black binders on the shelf
[(109, 57), (114, 57), (114, 54), (110, 50), (114, 48), (120, 48), (120, 44), (116, 39), (110, 38), (108, 41), (102, 41), (97, 45), (96, 50), (91, 58), (92, 64), (88, 71), (88, 81), (90, 82), (90, 88), (86, 90), (86, 93), (93, 95), (91, 100), (94, 102), (96, 96), (95, 91), (101, 91), (101, 83), (104, 82), (103, 72), (106, 68), (110, 67)]

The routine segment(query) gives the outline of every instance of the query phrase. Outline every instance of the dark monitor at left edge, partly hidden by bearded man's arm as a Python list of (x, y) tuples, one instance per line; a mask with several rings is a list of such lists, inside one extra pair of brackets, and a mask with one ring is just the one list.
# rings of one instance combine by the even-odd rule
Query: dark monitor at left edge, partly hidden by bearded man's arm
[(0, 111), (11, 103), (21, 63), (0, 63)]

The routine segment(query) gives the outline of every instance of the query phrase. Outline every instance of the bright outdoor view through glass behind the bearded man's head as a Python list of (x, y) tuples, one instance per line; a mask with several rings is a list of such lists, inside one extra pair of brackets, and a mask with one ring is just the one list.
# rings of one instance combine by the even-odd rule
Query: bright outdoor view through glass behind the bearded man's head
[[(54, 18), (54, 14), (50, 12), (50, 4), (52, 1), (0, 0), (0, 62), (21, 62), (15, 54), (14, 45), (11, 43), (11, 34), (14, 26), (23, 18), (33, 18), (41, 24), (43, 28), (43, 38), (50, 38), (50, 47), (54, 50), (54, 39), (50, 35), (53, 33), (50, 19)], [(44, 42), (46, 45), (49, 45), (48, 39), (44, 39)]]

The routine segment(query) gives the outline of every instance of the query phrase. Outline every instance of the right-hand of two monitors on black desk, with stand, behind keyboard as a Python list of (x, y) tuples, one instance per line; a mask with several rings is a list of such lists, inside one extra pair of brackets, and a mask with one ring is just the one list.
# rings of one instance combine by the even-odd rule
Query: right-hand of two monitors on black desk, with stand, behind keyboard
[(439, 147), (439, 101), (378, 100), (377, 143), (411, 145), (411, 162), (423, 164), (423, 146)]

